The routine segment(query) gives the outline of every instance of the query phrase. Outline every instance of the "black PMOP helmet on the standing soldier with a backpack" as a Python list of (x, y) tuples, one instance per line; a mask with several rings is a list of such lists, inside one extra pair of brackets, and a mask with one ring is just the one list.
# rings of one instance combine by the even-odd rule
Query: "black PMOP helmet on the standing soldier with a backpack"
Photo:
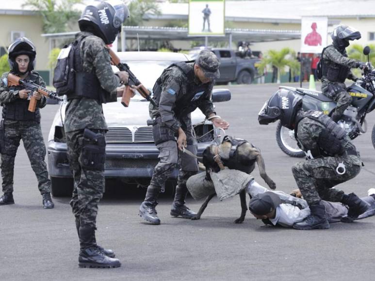
[(114, 42), (128, 17), (128, 7), (120, 0), (93, 2), (84, 8), (78, 25), (81, 31), (93, 32), (108, 45)]

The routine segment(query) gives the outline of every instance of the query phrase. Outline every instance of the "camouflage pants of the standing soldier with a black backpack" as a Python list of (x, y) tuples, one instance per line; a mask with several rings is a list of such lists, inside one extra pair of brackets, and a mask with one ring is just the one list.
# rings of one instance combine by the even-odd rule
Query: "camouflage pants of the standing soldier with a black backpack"
[[(93, 130), (94, 131), (94, 130)], [(104, 130), (95, 130), (105, 134)], [(88, 142), (83, 137), (83, 130), (66, 132), (67, 158), (73, 172), (74, 189), (70, 205), (81, 227), (96, 227), (98, 203), (104, 192), (104, 171), (87, 169), (82, 154)]]

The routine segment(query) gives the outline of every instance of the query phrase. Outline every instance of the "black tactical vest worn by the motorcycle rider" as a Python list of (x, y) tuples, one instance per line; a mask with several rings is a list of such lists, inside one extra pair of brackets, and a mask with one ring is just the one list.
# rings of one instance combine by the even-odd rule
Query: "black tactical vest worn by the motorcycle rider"
[[(350, 68), (336, 62), (332, 62), (326, 59), (323, 59), (323, 54), (326, 48), (334, 47), (333, 45), (329, 45), (325, 47), (322, 51), (320, 59), (322, 61), (322, 76), (325, 76), (330, 82), (345, 82), (345, 79), (348, 77), (350, 73)], [(340, 51), (338, 48), (334, 47), (338, 50), (344, 57), (348, 57), (346, 50)]]

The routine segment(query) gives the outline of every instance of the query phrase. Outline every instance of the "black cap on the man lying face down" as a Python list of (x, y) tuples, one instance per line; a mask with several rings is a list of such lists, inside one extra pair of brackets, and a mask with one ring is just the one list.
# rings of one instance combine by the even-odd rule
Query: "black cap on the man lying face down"
[(267, 191), (255, 195), (250, 200), (249, 210), (255, 215), (263, 216), (275, 210), (280, 204), (280, 197), (274, 192)]

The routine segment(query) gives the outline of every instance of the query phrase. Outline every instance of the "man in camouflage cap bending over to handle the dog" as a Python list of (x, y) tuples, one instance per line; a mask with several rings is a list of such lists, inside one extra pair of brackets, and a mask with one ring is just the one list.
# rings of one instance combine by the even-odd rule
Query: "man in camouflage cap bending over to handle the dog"
[[(228, 128), (228, 122), (216, 115), (211, 101), (212, 87), (219, 77), (219, 61), (209, 50), (202, 50), (196, 62), (177, 62), (167, 67), (155, 83), (153, 94), (159, 105), (150, 104), (150, 116), (156, 147), (159, 149), (159, 163), (156, 165), (145, 201), (139, 208), (139, 215), (152, 224), (160, 224), (155, 206), (159, 192), (176, 165), (179, 176), (171, 216), (191, 219), (196, 215), (185, 206), (186, 181), (196, 174), (196, 158), (184, 154), (184, 149), (197, 153), (197, 144), (191, 122), (191, 112), (199, 108), (213, 125)], [(176, 138), (177, 142), (176, 142)]]

